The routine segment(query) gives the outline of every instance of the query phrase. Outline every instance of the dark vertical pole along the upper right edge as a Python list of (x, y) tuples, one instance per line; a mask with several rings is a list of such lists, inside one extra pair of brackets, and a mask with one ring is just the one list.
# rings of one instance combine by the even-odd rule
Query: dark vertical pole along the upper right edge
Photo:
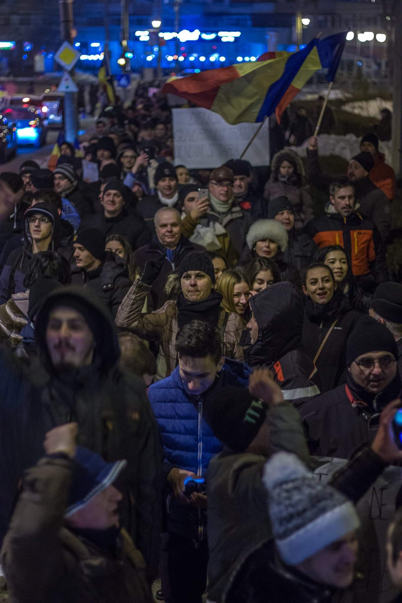
[[(402, 3), (395, 4), (394, 21), (394, 57), (402, 56)], [(392, 113), (392, 167), (395, 173), (402, 174), (402, 62), (394, 60), (394, 112)]]

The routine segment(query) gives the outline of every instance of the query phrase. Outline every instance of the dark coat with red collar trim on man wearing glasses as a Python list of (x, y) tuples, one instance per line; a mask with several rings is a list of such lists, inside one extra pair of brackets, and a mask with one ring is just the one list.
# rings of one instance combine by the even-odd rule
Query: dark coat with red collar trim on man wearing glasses
[(300, 414), (310, 454), (350, 458), (359, 446), (371, 443), (378, 414), (401, 395), (399, 373), (377, 395), (357, 385), (350, 374), (346, 384), (306, 402)]

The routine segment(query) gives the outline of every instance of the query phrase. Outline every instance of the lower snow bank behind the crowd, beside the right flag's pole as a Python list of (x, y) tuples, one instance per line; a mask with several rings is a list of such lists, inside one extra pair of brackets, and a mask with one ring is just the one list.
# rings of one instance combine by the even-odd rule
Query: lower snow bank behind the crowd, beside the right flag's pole
[[(318, 153), (320, 155), (339, 155), (347, 161), (351, 157), (360, 153), (360, 138), (354, 134), (346, 134), (346, 136), (338, 136), (338, 134), (318, 134)], [(295, 151), (300, 157), (306, 157), (306, 149), (309, 144), (308, 140), (303, 142), (301, 147), (289, 147)], [(385, 162), (391, 163), (392, 140), (380, 142), (378, 148), (380, 153), (385, 154)]]

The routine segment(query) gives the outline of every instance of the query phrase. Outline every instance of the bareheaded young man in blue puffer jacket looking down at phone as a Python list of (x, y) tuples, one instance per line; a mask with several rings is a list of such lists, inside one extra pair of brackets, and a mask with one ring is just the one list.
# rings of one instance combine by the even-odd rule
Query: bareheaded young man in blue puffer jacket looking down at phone
[(219, 331), (198, 320), (180, 330), (175, 346), (178, 367), (148, 393), (165, 457), (163, 593), (169, 603), (201, 603), (208, 563), (204, 478), (210, 459), (222, 450), (204, 411), (210, 396), (225, 385), (247, 388), (251, 371), (223, 358)]

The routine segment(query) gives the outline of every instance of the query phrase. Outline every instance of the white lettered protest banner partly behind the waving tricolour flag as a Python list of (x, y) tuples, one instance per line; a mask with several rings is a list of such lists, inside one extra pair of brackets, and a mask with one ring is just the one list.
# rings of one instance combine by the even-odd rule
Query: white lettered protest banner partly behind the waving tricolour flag
[[(173, 109), (175, 165), (217, 168), (239, 159), (261, 124), (230, 125), (218, 113), (197, 109)], [(269, 165), (268, 119), (242, 158), (253, 166)]]

